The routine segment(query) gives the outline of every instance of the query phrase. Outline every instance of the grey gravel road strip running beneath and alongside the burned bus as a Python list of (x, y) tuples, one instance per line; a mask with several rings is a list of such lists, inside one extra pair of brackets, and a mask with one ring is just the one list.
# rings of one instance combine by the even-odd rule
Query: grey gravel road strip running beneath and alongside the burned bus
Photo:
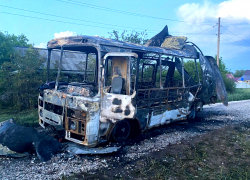
[(122, 146), (113, 155), (73, 156), (62, 153), (46, 163), (40, 162), (35, 155), (19, 159), (0, 157), (0, 179), (61, 179), (74, 173), (113, 169), (113, 162), (135, 160), (170, 144), (191, 141), (193, 137), (214, 129), (249, 122), (249, 109), (250, 100), (230, 102), (228, 107), (221, 103), (206, 105), (192, 121), (154, 128), (122, 144), (110, 143), (108, 146)]

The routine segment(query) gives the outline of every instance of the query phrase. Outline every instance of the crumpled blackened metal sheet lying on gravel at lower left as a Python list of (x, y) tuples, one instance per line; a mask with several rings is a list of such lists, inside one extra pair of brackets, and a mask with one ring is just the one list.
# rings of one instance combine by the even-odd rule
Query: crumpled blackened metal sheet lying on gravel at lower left
[(15, 124), (13, 120), (0, 127), (0, 144), (17, 153), (30, 152), (33, 144), (41, 161), (48, 161), (53, 154), (62, 150), (54, 138), (38, 133), (34, 128)]

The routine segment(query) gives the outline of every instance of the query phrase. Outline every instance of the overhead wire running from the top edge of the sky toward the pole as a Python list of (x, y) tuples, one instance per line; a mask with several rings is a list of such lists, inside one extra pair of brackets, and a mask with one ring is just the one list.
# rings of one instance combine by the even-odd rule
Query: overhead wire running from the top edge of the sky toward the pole
[[(138, 13), (133, 13), (133, 12), (128, 12), (128, 11), (121, 11), (121, 10), (118, 10), (118, 9), (112, 9), (112, 8), (107, 8), (107, 7), (103, 7), (103, 6), (97, 6), (97, 5), (93, 5), (93, 4), (82, 3), (82, 2), (74, 1), (74, 0), (71, 0), (71, 1), (57, 0), (57, 1), (64, 2), (64, 3), (69, 3), (69, 4), (74, 4), (74, 5), (79, 5), (79, 6), (85, 6), (85, 7), (93, 8), (93, 9), (99, 9), (99, 10), (103, 10), (103, 11), (109, 11), (109, 12), (114, 12), (114, 13), (138, 16), (138, 17), (146, 17), (146, 18), (167, 20), (167, 21), (174, 21), (174, 22), (181, 22), (181, 23), (187, 23), (187, 24), (191, 23), (191, 22), (186, 22), (186, 21), (181, 21), (181, 20), (168, 19), (168, 18), (162, 18), (162, 17), (156, 17), (156, 16), (149, 16), (149, 15), (145, 15), (145, 14), (138, 14)], [(197, 23), (208, 24), (208, 23), (203, 23), (203, 22), (197, 22)]]

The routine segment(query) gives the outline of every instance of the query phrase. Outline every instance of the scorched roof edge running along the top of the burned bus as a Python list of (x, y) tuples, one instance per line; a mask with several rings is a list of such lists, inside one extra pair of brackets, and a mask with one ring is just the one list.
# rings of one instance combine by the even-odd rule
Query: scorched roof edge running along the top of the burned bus
[(98, 36), (85, 35), (55, 38), (48, 42), (47, 47), (48, 49), (60, 49), (61, 46), (63, 46), (66, 50), (75, 50), (76, 47), (88, 45), (99, 47), (100, 51), (103, 52), (156, 53), (195, 59), (199, 57), (196, 48), (186, 42), (181, 49), (173, 49), (156, 46), (144, 46)]

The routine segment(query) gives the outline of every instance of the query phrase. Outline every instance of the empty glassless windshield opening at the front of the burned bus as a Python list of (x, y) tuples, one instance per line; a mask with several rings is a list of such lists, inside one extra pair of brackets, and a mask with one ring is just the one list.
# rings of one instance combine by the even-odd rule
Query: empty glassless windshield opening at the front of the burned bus
[(59, 70), (59, 82), (96, 84), (98, 62), (96, 52), (63, 50), (61, 62), (60, 58), (61, 51), (53, 49), (49, 63), (50, 81), (56, 80)]

